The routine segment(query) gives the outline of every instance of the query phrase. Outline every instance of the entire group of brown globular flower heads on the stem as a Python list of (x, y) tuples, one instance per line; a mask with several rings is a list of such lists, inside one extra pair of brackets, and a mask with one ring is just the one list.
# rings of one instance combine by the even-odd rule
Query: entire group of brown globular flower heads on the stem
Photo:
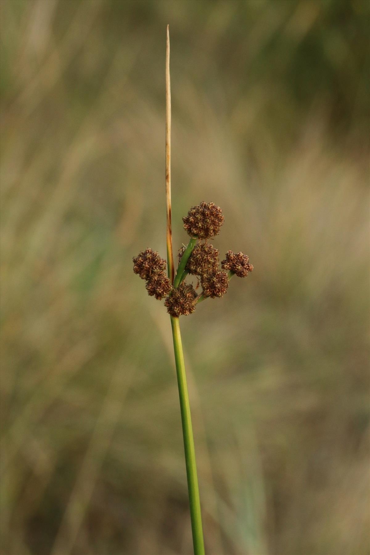
[[(219, 233), (224, 223), (224, 216), (219, 206), (205, 202), (192, 206), (183, 221), (187, 233), (191, 238), (199, 239), (199, 242), (187, 259), (178, 287), (175, 288), (166, 276), (166, 261), (157, 251), (146, 249), (133, 258), (134, 273), (146, 280), (148, 295), (158, 300), (166, 297), (164, 304), (169, 314), (174, 317), (192, 314), (197, 301), (201, 300), (200, 297), (211, 297), (211, 299), (222, 297), (233, 275), (244, 278), (253, 270), (246, 254), (235, 254), (231, 250), (227, 251), (225, 260), (221, 261), (222, 270), (228, 270), (229, 273), (220, 270), (219, 251), (207, 243), (207, 239)], [(179, 262), (183, 256), (184, 250), (181, 250)], [(184, 281), (187, 274), (199, 276), (201, 294), (197, 295), (194, 287)]]

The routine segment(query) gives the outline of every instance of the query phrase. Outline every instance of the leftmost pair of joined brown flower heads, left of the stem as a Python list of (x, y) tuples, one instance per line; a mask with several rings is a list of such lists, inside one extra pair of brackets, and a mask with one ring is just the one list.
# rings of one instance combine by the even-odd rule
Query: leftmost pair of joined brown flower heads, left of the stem
[(166, 261), (156, 250), (146, 249), (134, 256), (134, 273), (146, 280), (148, 295), (161, 300), (171, 291), (171, 282), (165, 274)]

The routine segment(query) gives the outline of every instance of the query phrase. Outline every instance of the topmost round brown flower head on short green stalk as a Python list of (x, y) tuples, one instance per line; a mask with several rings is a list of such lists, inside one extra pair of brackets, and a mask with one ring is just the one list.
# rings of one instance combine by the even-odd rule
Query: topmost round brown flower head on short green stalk
[(191, 237), (209, 239), (219, 234), (221, 225), (224, 223), (222, 210), (214, 203), (201, 202), (192, 206), (187, 216), (183, 218), (184, 229)]

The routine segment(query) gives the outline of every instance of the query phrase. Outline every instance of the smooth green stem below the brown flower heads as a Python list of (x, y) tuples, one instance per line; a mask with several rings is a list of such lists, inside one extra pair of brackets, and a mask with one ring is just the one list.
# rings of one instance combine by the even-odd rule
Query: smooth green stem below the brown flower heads
[(202, 529), (202, 515), (200, 511), (200, 498), (198, 478), (196, 474), (194, 438), (192, 436), (191, 415), (189, 405), (189, 394), (187, 393), (186, 374), (184, 364), (183, 345), (181, 344), (179, 319), (171, 316), (172, 335), (174, 339), (174, 351), (176, 362), (176, 373), (178, 376), (181, 422), (183, 423), (184, 449), (187, 488), (189, 490), (190, 517), (192, 542), (194, 544), (194, 555), (204, 555), (204, 540)]

